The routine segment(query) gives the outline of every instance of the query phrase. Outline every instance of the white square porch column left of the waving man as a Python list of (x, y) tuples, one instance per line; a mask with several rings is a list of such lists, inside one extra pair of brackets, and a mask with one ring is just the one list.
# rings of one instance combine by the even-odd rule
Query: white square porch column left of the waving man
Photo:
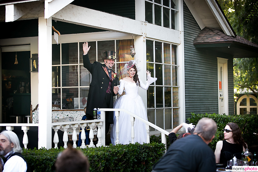
[(38, 18), (38, 148), (51, 148), (52, 21)]

